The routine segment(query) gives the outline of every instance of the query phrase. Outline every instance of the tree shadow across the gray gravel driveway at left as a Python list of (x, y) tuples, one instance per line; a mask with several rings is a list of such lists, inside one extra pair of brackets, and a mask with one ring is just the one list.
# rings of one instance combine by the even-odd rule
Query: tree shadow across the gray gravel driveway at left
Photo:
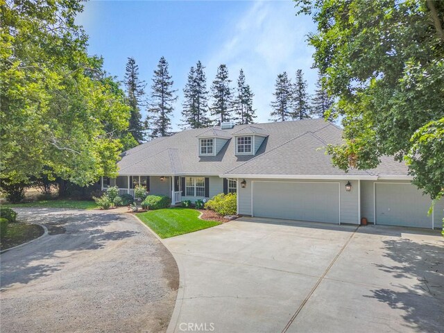
[(60, 271), (64, 256), (76, 251), (98, 250), (110, 241), (133, 237), (139, 232), (110, 230), (106, 227), (128, 217), (100, 212), (50, 212), (36, 210), (19, 212), (19, 221), (39, 222), (47, 225), (49, 236), (29, 246), (1, 255), (1, 291), (15, 283), (26, 284), (35, 279)]

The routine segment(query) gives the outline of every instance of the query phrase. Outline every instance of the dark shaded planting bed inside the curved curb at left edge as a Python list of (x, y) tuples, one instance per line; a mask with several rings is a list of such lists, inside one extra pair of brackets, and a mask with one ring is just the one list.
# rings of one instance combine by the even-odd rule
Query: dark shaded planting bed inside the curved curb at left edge
[(20, 244), (27, 243), (43, 234), (40, 225), (25, 223), (9, 223), (5, 237), (0, 241), (0, 250), (6, 250)]

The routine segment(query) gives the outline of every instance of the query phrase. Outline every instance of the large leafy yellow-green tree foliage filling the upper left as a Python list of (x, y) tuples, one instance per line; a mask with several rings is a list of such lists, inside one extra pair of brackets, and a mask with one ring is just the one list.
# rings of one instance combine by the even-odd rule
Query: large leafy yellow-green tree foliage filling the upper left
[(80, 1), (3, 1), (0, 177), (48, 171), (78, 185), (116, 176), (129, 108), (103, 60), (87, 56)]

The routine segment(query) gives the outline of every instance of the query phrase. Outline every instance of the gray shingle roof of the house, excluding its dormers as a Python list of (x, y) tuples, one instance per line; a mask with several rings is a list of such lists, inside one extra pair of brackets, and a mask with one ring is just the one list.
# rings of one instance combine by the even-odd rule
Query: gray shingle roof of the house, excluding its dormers
[[(234, 155), (234, 133), (247, 133), (252, 127), (260, 128), (268, 137), (256, 155)], [(216, 134), (227, 138), (227, 143), (216, 156), (198, 156), (198, 137)], [(327, 143), (341, 143), (341, 128), (323, 119), (285, 121), (236, 125), (232, 129), (198, 128), (183, 130), (171, 137), (154, 139), (122, 154), (118, 163), (119, 174), (226, 176), (234, 174), (265, 173), (271, 175), (345, 175), (332, 167), (330, 157), (318, 150)], [(384, 158), (375, 170), (352, 170), (348, 176), (400, 175), (407, 169)], [(393, 160), (393, 159), (392, 159)]]

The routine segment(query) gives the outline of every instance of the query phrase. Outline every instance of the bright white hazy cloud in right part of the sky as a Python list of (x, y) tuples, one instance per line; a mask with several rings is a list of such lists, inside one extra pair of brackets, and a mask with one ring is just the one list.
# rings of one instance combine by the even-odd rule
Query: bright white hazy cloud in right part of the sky
[(316, 69), (311, 69), (313, 49), (307, 46), (307, 33), (314, 30), (309, 17), (296, 16), (291, 1), (254, 2), (250, 8), (232, 20), (226, 28), (219, 49), (213, 50), (204, 65), (210, 85), (220, 64), (228, 66), (234, 87), (239, 69), (244, 69), (247, 83), (255, 93), (257, 121), (268, 121), (273, 99), (275, 78), (287, 71), (291, 78), (302, 69), (314, 90)]

